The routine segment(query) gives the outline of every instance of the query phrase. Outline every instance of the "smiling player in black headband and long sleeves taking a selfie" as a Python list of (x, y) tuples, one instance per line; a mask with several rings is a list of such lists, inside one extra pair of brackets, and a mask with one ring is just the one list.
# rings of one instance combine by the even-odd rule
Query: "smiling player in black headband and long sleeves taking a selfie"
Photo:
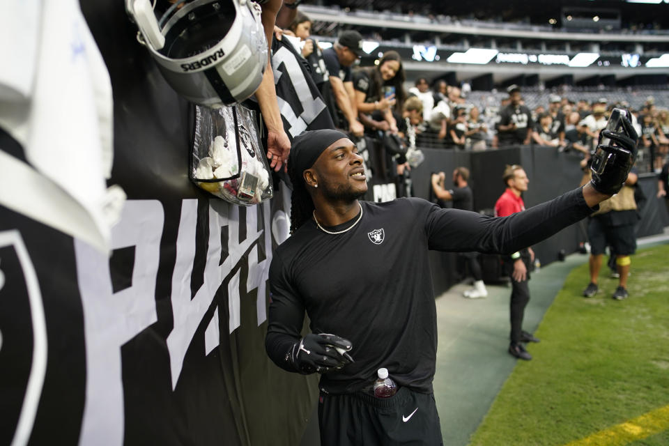
[[(417, 198), (359, 201), (367, 182), (346, 134), (296, 137), (292, 236), (270, 265), (266, 350), (283, 369), (321, 374), (321, 444), (441, 444), (428, 250), (516, 252), (592, 213), (608, 197), (596, 187), (610, 192), (624, 169), (522, 213), (486, 217)], [(311, 332), (302, 337), (305, 312)], [(382, 367), (399, 386), (385, 399), (372, 390)]]

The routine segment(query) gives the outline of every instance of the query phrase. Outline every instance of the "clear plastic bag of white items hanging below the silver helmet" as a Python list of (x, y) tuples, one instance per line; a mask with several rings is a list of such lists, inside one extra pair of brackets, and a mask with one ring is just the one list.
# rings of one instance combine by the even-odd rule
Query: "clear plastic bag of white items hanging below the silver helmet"
[(272, 175), (252, 110), (195, 106), (190, 178), (201, 189), (242, 206), (272, 198)]

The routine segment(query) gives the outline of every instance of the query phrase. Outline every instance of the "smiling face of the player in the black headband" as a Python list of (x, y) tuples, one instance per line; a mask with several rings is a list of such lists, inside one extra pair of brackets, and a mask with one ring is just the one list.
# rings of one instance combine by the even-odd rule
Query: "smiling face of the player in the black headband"
[(367, 192), (362, 162), (351, 139), (342, 138), (330, 144), (307, 171), (314, 171), (318, 189), (326, 198), (352, 201)]

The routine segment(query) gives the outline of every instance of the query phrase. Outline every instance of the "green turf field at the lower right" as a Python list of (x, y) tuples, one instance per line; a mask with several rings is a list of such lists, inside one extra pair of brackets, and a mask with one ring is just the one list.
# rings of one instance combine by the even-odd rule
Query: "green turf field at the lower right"
[[(587, 264), (569, 274), (470, 445), (669, 445), (669, 245), (633, 256), (626, 300), (608, 268), (586, 299), (588, 282)], [(630, 440), (615, 426), (633, 419), (650, 428)]]

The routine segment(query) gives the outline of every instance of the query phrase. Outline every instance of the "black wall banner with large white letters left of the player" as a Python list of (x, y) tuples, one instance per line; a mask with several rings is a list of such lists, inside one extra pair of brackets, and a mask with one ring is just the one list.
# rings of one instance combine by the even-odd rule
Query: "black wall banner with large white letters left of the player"
[(112, 79), (110, 183), (128, 201), (111, 256), (0, 206), (0, 444), (297, 445), (316, 376), (264, 348), (289, 195), (243, 208), (192, 185), (192, 107), (123, 2), (82, 10)]

